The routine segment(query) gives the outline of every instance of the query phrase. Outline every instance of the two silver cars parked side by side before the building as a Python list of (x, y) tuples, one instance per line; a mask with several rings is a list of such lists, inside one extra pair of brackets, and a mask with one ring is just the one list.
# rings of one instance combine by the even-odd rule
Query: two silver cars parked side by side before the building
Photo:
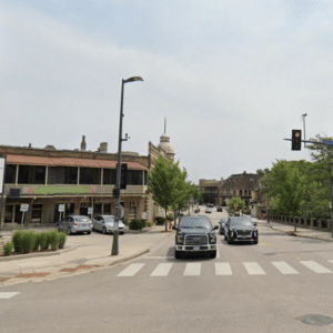
[[(68, 215), (57, 223), (58, 231), (65, 231), (67, 234), (87, 233), (100, 231), (104, 234), (115, 231), (115, 218), (113, 215), (97, 215), (93, 219), (83, 215)], [(119, 233), (125, 232), (122, 221), (118, 224)]]

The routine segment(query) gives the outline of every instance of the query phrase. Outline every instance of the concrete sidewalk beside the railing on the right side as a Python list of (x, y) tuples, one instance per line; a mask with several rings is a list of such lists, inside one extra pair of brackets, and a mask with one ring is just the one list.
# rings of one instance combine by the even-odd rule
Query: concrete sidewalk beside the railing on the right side
[(294, 226), (293, 225), (286, 225), (283, 223), (276, 223), (276, 222), (270, 222), (268, 223), (268, 220), (259, 220), (256, 218), (251, 218), (252, 222), (256, 222), (258, 225), (263, 225), (271, 228), (273, 230), (284, 232), (286, 234), (291, 234), (293, 236), (300, 236), (300, 238), (306, 238), (306, 239), (315, 239), (315, 240), (322, 240), (326, 242), (333, 242), (332, 232), (331, 231), (319, 231), (319, 230), (312, 230), (306, 228), (296, 228), (296, 232), (294, 233)]

